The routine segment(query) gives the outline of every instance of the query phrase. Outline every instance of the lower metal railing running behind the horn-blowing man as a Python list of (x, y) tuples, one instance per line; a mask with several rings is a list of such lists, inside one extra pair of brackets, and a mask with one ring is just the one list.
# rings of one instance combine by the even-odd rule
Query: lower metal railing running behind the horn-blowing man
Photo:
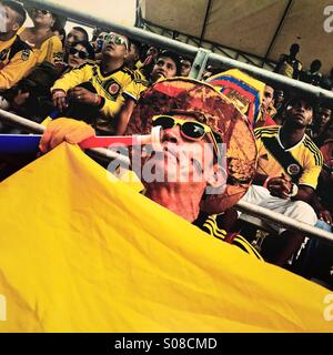
[[(30, 120), (27, 120), (24, 118), (21, 118), (17, 114), (13, 114), (3, 110), (0, 110), (0, 120), (6, 121), (9, 124), (23, 128), (24, 130), (33, 133), (43, 133), (46, 129), (43, 125), (39, 123), (32, 122)], [(94, 155), (98, 155), (99, 158), (109, 159), (109, 160), (117, 159), (119, 162), (123, 162), (127, 166), (131, 165), (130, 160), (128, 158), (120, 155), (114, 151), (103, 149), (103, 148), (91, 149), (88, 151), (90, 151)], [(333, 242), (333, 233), (329, 233), (326, 231), (316, 229), (309, 224), (294, 221), (283, 214), (273, 212), (269, 209), (264, 209), (244, 201), (240, 201), (236, 204), (236, 209), (241, 212), (244, 212), (252, 216), (260, 217), (270, 223), (279, 224), (292, 231), (302, 232), (306, 236), (313, 236), (320, 240)]]

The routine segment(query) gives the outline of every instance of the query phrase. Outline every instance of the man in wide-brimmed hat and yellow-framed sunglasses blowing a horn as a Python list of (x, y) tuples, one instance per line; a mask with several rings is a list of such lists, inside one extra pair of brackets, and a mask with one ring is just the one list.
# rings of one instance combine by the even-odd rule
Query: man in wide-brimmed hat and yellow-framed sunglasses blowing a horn
[[(132, 170), (142, 178), (145, 196), (193, 223), (200, 210), (222, 212), (245, 192), (243, 187), (246, 183), (249, 186), (255, 165), (253, 135), (242, 114), (213, 88), (195, 80), (169, 79), (148, 89), (133, 112), (128, 133), (145, 134), (153, 126), (162, 129), (160, 144), (153, 151), (139, 148), (139, 165), (132, 153)], [(94, 131), (85, 123), (59, 119), (48, 125), (40, 150), (46, 153), (63, 141), (80, 143), (92, 135)], [(238, 170), (229, 171), (235, 190), (226, 182), (222, 143), (231, 148), (229, 160), (239, 162)], [(239, 154), (243, 149), (246, 158)], [(244, 162), (252, 168), (242, 170)], [(223, 232), (210, 234), (226, 240)], [(241, 236), (234, 235), (230, 242), (242, 244), (243, 250), (261, 258)]]

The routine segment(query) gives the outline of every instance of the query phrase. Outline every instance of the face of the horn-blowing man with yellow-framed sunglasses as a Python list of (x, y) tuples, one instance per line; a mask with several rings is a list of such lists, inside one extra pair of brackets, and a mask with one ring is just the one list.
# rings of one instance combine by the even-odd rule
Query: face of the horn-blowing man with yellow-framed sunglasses
[[(192, 194), (198, 193), (201, 199), (211, 178), (206, 169), (213, 166), (220, 154), (215, 133), (194, 116), (158, 115), (152, 120), (153, 126), (162, 128), (161, 152), (149, 156), (145, 163), (162, 174), (163, 183), (191, 184)], [(209, 172), (213, 175), (213, 171)]]

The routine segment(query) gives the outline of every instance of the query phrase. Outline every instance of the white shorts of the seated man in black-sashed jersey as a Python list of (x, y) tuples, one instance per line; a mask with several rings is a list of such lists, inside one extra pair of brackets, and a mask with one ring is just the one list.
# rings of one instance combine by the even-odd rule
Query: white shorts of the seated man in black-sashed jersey
[[(314, 210), (306, 202), (274, 197), (271, 195), (270, 191), (263, 186), (251, 185), (241, 201), (266, 207), (306, 224), (314, 225), (317, 221)], [(270, 223), (270, 225), (276, 230), (278, 234), (285, 231), (285, 229), (274, 223)]]

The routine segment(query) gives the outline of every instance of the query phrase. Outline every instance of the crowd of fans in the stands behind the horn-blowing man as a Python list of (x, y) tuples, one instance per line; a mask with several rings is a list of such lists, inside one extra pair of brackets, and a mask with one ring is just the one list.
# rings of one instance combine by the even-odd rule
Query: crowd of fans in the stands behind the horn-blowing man
[[(33, 22), (31, 28), (22, 27), (27, 12)], [(1, 22), (0, 108), (39, 123), (67, 116), (89, 123), (99, 135), (122, 135), (142, 92), (161, 79), (188, 77), (191, 71), (189, 58), (143, 45), (109, 29), (95, 29), (91, 40), (81, 27), (65, 33), (62, 17), (44, 9), (24, 9), (14, 1), (0, 2)], [(303, 70), (296, 59), (299, 51), (299, 44), (292, 44), (274, 71), (333, 90), (333, 69), (329, 77), (322, 75), (316, 59), (309, 70)], [(221, 69), (208, 67), (203, 80), (218, 72)], [(306, 95), (295, 99), (292, 92), (266, 84), (254, 128), (261, 161), (253, 185), (260, 186), (263, 205), (273, 209), (269, 202), (273, 196), (276, 211), (332, 232), (332, 106), (325, 102), (317, 105)], [(0, 122), (0, 133), (18, 133), (18, 129)], [(265, 144), (271, 138), (278, 138), (280, 146), (271, 146), (276, 155), (272, 154), (270, 161)], [(294, 150), (297, 152), (292, 155)], [(284, 166), (287, 159), (290, 164)], [(285, 171), (292, 168), (296, 173), (293, 176), (287, 172), (292, 178), (286, 176)], [(248, 195), (248, 200), (260, 204), (259, 195), (253, 197), (254, 192), (251, 193), (252, 199)], [(234, 232), (232, 215), (222, 215), (225, 220), (231, 216), (223, 226), (228, 232)], [(246, 237), (246, 231), (243, 233)], [(284, 233), (285, 243), (272, 246), (268, 242), (262, 252), (265, 260), (286, 267), (305, 236), (279, 233)], [(324, 253), (331, 248), (329, 258), (333, 258), (332, 245), (316, 243), (316, 250), (323, 248)], [(307, 241), (307, 250), (309, 244)], [(306, 273), (304, 267), (300, 272), (306, 276), (322, 273), (322, 278), (333, 286), (333, 261), (317, 266), (319, 257), (321, 254), (307, 257)]]

